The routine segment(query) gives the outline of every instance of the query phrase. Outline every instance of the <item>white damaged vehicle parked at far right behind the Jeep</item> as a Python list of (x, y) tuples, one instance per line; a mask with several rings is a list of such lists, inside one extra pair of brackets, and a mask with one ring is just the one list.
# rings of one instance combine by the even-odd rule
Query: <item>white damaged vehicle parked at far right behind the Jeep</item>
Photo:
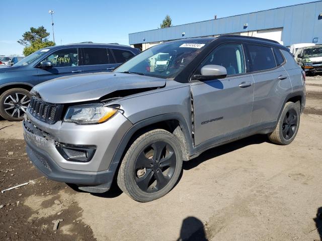
[(322, 73), (322, 45), (300, 48), (296, 51), (296, 62), (306, 75)]

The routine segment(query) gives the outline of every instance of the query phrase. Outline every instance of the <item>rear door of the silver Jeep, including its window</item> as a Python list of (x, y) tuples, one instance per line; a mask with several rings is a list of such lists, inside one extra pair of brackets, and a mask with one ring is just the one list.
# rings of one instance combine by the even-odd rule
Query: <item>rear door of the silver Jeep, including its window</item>
[(280, 51), (271, 46), (246, 46), (255, 81), (251, 125), (269, 124), (277, 119), (285, 96), (292, 92), (290, 78), (283, 67), (285, 60)]

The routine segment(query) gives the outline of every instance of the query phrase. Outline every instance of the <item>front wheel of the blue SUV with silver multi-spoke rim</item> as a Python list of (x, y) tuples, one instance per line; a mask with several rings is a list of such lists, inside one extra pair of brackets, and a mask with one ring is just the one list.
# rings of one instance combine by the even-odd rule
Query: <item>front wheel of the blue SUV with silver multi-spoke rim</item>
[(22, 121), (30, 101), (30, 92), (23, 88), (8, 89), (0, 95), (0, 115), (10, 122)]

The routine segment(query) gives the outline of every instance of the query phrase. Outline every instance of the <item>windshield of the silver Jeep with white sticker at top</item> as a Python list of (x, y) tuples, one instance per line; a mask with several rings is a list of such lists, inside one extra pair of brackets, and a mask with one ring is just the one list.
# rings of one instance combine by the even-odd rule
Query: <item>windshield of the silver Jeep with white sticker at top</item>
[(175, 78), (204, 48), (206, 42), (156, 45), (128, 60), (114, 72)]

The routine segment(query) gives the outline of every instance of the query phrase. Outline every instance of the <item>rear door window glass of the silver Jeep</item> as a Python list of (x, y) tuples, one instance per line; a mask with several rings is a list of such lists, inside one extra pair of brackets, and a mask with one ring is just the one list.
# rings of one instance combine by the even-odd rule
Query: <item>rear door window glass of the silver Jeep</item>
[(271, 47), (248, 45), (250, 53), (251, 71), (260, 71), (276, 67), (273, 50)]

